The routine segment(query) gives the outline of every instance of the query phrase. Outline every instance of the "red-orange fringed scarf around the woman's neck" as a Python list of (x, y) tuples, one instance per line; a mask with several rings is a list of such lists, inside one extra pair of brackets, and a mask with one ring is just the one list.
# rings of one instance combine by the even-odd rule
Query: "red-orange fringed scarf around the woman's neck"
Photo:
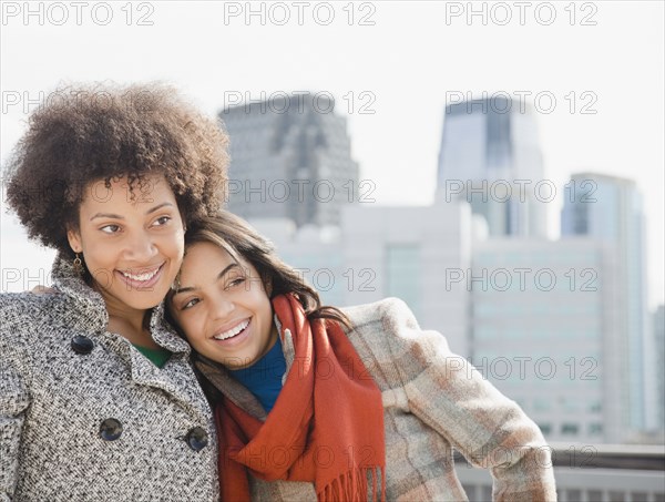
[(372, 500), (385, 500), (377, 385), (337, 321), (309, 322), (290, 294), (275, 297), (273, 308), (291, 332), (295, 360), (265, 422), (227, 398), (217, 406), (222, 501), (249, 500), (248, 472), (314, 482), (319, 501), (366, 501), (371, 480)]

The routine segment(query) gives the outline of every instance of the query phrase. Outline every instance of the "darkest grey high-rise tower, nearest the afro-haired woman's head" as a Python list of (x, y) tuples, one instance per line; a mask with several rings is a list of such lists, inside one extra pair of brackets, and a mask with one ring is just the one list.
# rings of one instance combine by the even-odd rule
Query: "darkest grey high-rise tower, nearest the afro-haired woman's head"
[(280, 94), (219, 113), (231, 136), (233, 213), (297, 226), (339, 223), (340, 207), (357, 202), (359, 181), (346, 119), (334, 105), (327, 93)]

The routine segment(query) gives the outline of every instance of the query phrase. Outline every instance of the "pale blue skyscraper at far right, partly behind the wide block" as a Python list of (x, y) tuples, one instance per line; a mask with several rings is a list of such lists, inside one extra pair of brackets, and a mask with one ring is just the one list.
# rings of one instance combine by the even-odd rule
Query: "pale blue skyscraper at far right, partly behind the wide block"
[(613, 305), (618, 339), (607, 340), (623, 376), (615, 389), (622, 397), (623, 426), (645, 427), (644, 337), (646, 275), (642, 195), (631, 180), (579, 173), (565, 185), (561, 216), (562, 236), (586, 235), (611, 246), (616, 256), (612, 274), (617, 285)]

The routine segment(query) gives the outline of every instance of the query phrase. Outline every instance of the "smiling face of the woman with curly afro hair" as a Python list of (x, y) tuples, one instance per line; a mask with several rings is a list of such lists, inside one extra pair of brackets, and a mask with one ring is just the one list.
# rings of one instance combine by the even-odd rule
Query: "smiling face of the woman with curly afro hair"
[[(133, 195), (133, 197), (132, 197)], [(71, 248), (81, 253), (111, 315), (145, 310), (164, 299), (184, 254), (175, 196), (163, 175), (130, 192), (126, 178), (85, 187)]]

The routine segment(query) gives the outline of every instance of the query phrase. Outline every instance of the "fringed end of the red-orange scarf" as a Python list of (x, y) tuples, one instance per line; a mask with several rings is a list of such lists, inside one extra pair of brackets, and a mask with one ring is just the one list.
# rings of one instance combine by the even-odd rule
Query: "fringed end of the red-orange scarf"
[[(371, 491), (368, 490), (369, 479), (371, 478)], [(381, 483), (380, 494), (378, 493), (379, 480)], [(336, 478), (324, 486), (324, 490), (317, 494), (319, 502), (366, 502), (360, 499), (360, 494), (367, 493), (367, 500), (375, 502), (386, 500), (386, 469), (382, 467), (351, 469), (339, 478)], [(378, 495), (378, 498), (377, 498)]]

